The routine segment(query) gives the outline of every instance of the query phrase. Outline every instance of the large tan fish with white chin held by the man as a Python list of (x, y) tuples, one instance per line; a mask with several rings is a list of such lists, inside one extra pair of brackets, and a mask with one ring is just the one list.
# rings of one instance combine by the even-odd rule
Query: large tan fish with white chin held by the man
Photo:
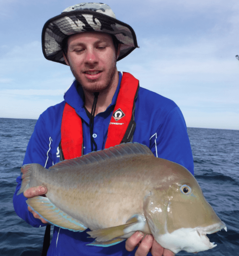
[(216, 246), (207, 234), (226, 230), (195, 177), (143, 144), (120, 144), (49, 169), (23, 165), (21, 172), (18, 194), (47, 187), (45, 196), (27, 199), (31, 209), (61, 228), (89, 228), (95, 240), (88, 245), (113, 246), (141, 231), (174, 253), (195, 253)]

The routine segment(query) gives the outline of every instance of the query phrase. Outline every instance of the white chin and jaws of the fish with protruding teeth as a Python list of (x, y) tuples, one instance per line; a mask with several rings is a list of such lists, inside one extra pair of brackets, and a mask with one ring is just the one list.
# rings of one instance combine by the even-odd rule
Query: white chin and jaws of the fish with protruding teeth
[(216, 247), (217, 245), (211, 243), (206, 234), (212, 234), (221, 229), (226, 230), (224, 222), (208, 227), (180, 228), (172, 233), (159, 235), (156, 240), (161, 246), (168, 248), (174, 253), (179, 251), (196, 253)]

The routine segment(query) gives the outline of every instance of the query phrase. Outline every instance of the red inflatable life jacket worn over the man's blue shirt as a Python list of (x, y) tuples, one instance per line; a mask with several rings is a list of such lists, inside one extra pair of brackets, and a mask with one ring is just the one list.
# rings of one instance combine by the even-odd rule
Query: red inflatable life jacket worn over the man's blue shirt
[[(123, 72), (119, 94), (111, 117), (105, 149), (123, 142), (129, 142), (135, 131), (135, 99), (138, 95), (139, 81), (130, 73)], [(121, 119), (122, 118), (122, 119)], [(82, 121), (75, 109), (65, 103), (60, 149), (61, 158), (81, 157), (83, 148)]]

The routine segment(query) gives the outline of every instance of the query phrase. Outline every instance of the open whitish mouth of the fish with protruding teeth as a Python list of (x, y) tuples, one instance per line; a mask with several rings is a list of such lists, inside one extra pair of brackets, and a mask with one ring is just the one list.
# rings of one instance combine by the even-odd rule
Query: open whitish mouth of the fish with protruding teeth
[(207, 237), (207, 234), (213, 234), (222, 229), (227, 231), (226, 224), (223, 221), (207, 227), (198, 227), (197, 233), (200, 236), (202, 242), (205, 243), (206, 246), (208, 246), (209, 248), (214, 248), (217, 245), (214, 242), (210, 242), (209, 238)]

